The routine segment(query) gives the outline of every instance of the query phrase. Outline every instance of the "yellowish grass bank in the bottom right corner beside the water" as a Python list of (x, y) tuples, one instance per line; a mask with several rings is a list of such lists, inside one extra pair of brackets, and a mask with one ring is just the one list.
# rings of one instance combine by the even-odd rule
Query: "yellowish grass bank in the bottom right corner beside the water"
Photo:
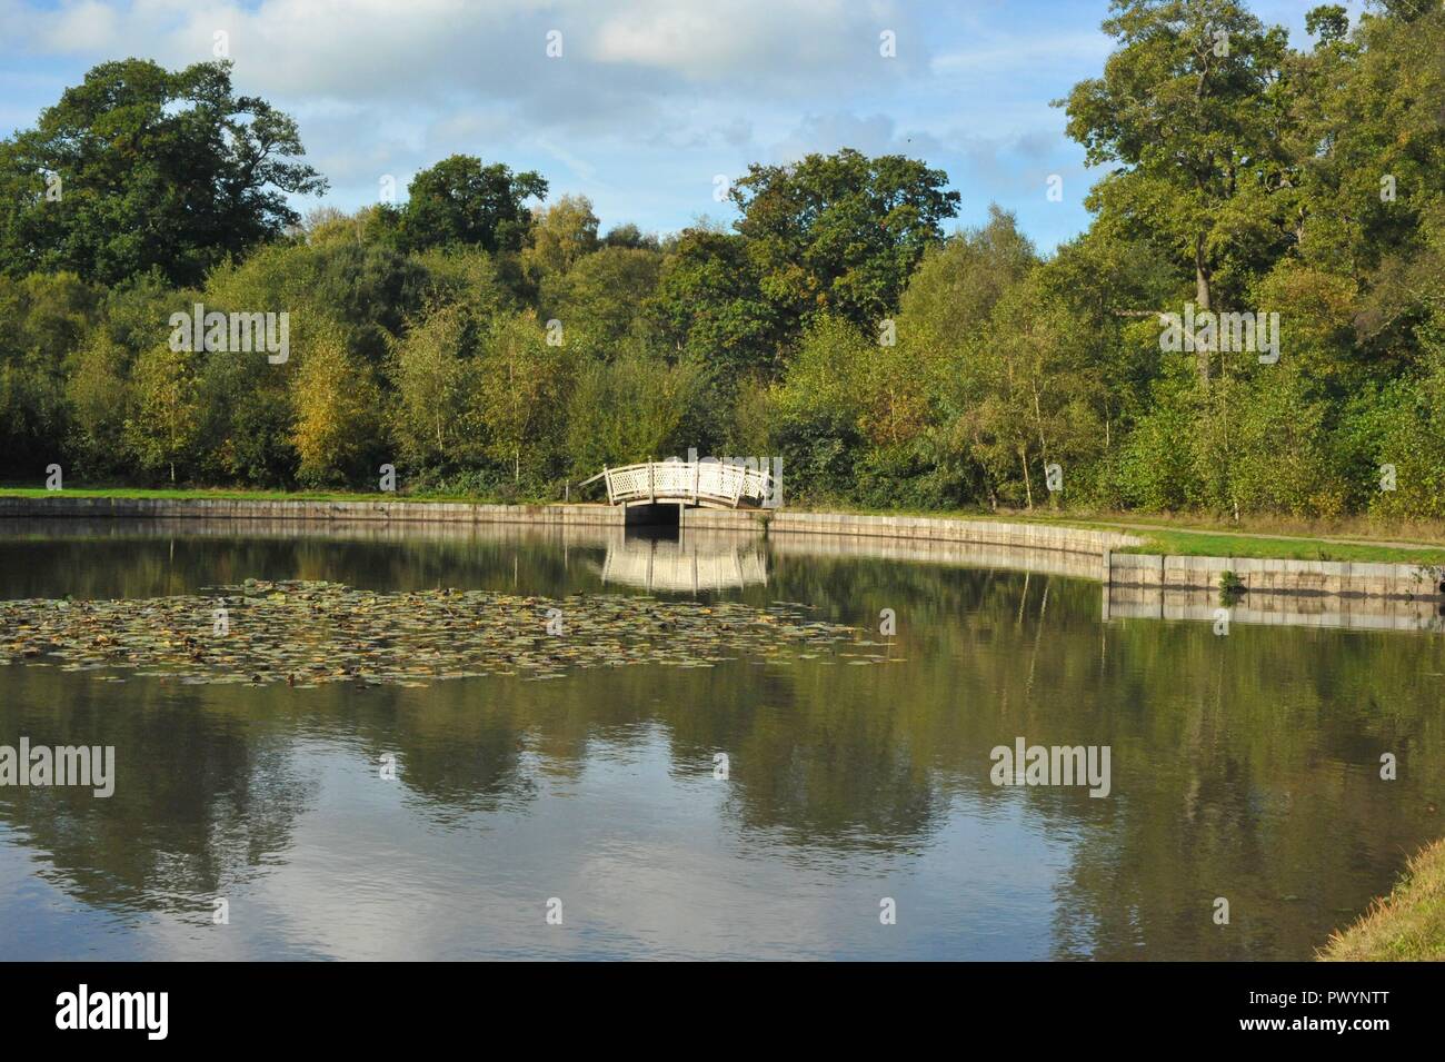
[(1319, 951), (1325, 962), (1445, 959), (1445, 841), (1410, 860), (1405, 877), (1381, 900)]

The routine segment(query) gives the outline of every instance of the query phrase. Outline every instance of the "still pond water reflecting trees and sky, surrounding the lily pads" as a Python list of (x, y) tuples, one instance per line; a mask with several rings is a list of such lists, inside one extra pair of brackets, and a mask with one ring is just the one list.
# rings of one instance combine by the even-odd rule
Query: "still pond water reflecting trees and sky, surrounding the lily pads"
[[(117, 777), (0, 786), (0, 959), (1311, 958), (1445, 832), (1439, 633), (1105, 621), (1053, 562), (899, 552), (0, 524), (6, 598), (299, 578), (789, 601), (897, 660), (314, 689), (17, 660), (0, 746), (114, 746)], [(1020, 737), (1107, 746), (1108, 796), (993, 785)]]

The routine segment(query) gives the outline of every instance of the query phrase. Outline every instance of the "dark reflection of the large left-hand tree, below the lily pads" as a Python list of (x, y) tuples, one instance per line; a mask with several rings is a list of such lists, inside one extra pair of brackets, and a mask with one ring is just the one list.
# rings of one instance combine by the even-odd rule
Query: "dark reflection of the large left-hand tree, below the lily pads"
[[(48, 854), (49, 874), (95, 906), (185, 912), (224, 896), (290, 845), (316, 783), (285, 735), (217, 711), (210, 691), (117, 688), (7, 668), (0, 743), (114, 746), (116, 789), (0, 789), (0, 816)], [(236, 699), (234, 686), (215, 688)], [(247, 691), (264, 696), (264, 691)], [(65, 711), (56, 711), (65, 705)], [(257, 712), (256, 709), (262, 711)], [(264, 705), (251, 712), (264, 715)]]

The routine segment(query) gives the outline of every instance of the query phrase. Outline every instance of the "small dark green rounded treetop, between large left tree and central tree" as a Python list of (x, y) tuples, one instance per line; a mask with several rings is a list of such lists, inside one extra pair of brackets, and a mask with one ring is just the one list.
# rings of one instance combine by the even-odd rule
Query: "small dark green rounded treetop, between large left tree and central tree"
[(532, 227), (526, 199), (546, 195), (546, 181), (500, 162), (484, 166), (471, 155), (452, 155), (423, 169), (407, 186), (399, 221), (407, 250), (475, 244), (487, 251), (517, 251)]

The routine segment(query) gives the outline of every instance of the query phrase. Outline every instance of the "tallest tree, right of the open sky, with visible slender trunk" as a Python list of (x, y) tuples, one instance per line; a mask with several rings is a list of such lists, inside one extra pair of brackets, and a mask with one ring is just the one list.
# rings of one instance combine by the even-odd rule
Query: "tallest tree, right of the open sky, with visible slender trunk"
[[(1091, 166), (1121, 163), (1088, 205), (1168, 247), (1194, 276), (1198, 309), (1218, 309), (1220, 282), (1241, 293), (1287, 240), (1276, 218), (1290, 197), (1272, 202), (1292, 188), (1285, 32), (1235, 0), (1113, 0), (1111, 10), (1104, 32), (1120, 48), (1104, 77), (1056, 101)], [(1209, 379), (1208, 351), (1198, 370)]]

